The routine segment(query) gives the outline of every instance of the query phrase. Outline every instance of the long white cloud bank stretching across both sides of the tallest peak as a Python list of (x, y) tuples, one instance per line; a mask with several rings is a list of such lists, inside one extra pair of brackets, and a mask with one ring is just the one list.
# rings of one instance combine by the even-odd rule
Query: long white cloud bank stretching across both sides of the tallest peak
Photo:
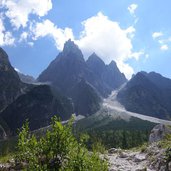
[(78, 39), (75, 39), (71, 28), (58, 28), (50, 20), (34, 23), (30, 30), (33, 40), (52, 37), (58, 50), (62, 50), (65, 41), (70, 38), (80, 47), (85, 59), (95, 52), (106, 64), (115, 60), (126, 77), (131, 78), (134, 70), (126, 61), (130, 58), (138, 60), (144, 54), (143, 51), (133, 52), (135, 28), (130, 26), (122, 29), (118, 22), (101, 12), (83, 21), (82, 26), (83, 31)]

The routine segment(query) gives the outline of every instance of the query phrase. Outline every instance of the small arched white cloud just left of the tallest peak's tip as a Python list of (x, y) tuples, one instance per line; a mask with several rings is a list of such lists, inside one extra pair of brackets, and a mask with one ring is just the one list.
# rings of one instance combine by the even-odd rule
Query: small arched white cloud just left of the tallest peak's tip
[(40, 37), (50, 36), (54, 39), (57, 49), (62, 50), (65, 41), (68, 39), (74, 40), (72, 29), (61, 29), (54, 25), (50, 20), (44, 20), (40, 23), (35, 23), (31, 27), (33, 39), (37, 40)]

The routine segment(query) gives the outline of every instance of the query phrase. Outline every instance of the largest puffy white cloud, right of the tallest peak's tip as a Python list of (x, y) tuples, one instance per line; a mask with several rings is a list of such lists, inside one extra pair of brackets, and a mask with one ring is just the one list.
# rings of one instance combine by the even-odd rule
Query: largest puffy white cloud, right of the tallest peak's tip
[(126, 61), (129, 58), (137, 59), (140, 55), (132, 52), (132, 36), (130, 35), (134, 34), (135, 28), (131, 26), (122, 29), (119, 23), (111, 21), (101, 12), (83, 21), (82, 25), (84, 30), (76, 43), (83, 51), (84, 56), (87, 58), (95, 52), (105, 63), (115, 60), (126, 77), (131, 78), (134, 71)]

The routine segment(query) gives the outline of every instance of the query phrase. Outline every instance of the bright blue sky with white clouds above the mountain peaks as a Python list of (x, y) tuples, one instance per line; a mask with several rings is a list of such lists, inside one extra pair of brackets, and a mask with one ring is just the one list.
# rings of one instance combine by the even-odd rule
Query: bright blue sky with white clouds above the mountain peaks
[(0, 0), (0, 46), (12, 65), (37, 77), (71, 38), (130, 78), (171, 78), (170, 0)]

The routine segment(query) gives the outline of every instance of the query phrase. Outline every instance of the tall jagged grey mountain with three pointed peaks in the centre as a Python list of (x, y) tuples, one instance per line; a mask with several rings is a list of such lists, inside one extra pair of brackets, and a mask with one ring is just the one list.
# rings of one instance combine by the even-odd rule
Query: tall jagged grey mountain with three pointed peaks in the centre
[[(93, 98), (96, 94), (98, 98), (95, 97), (91, 102), (94, 103), (97, 100), (96, 103), (99, 103), (100, 96), (107, 97), (114, 88), (126, 81), (124, 75), (119, 73), (116, 67), (116, 65), (106, 66), (96, 54), (92, 54), (86, 62), (78, 46), (73, 41), (68, 40), (64, 44), (63, 51), (40, 74), (38, 81), (50, 82), (66, 96), (71, 97), (75, 106), (78, 106), (78, 100), (75, 100), (76, 97), (73, 94), (75, 87), (77, 87), (78, 92), (84, 92), (83, 88), (85, 88), (85, 92), (87, 92), (84, 94), (85, 99)], [(109, 74), (109, 71), (112, 72)], [(78, 86), (81, 80), (85, 80), (86, 86)], [(94, 88), (91, 91), (86, 91), (89, 85)], [(81, 96), (78, 98), (81, 99)], [(86, 107), (88, 109), (88, 106), (85, 106), (85, 111), (82, 110), (83, 108), (77, 108), (77, 114), (87, 114)], [(94, 111), (94, 109), (90, 111)]]

